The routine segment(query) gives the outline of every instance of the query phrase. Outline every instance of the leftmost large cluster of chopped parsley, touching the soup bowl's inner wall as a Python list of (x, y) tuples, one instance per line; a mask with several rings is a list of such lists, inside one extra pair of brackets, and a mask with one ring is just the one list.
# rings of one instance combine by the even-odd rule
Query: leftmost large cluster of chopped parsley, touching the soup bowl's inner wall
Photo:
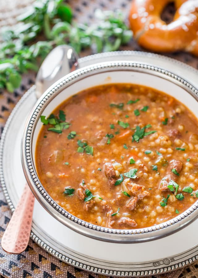
[(45, 119), (45, 116), (40, 117), (41, 122), (43, 124), (51, 124), (54, 125), (54, 127), (48, 128), (47, 130), (53, 131), (56, 133), (62, 133), (63, 129), (67, 129), (70, 126), (70, 123), (65, 122), (66, 116), (64, 111), (59, 111), (59, 117), (55, 117), (54, 114), (51, 114), (47, 119)]

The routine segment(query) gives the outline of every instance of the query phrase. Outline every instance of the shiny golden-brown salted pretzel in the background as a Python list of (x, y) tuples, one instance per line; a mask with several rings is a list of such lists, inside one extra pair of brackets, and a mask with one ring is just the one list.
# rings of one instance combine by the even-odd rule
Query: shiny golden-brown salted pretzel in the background
[(133, 0), (130, 27), (138, 43), (155, 52), (184, 50), (198, 56), (198, 0), (175, 0), (169, 24), (160, 15), (170, 0)]

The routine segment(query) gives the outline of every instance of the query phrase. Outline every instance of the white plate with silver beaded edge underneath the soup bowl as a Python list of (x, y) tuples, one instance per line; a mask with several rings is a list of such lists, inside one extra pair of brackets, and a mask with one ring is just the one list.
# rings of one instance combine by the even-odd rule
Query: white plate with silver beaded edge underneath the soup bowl
[[(173, 59), (150, 53), (103, 53), (81, 58), (79, 63), (82, 67), (110, 60), (154, 64), (184, 76), (194, 86), (198, 86), (198, 71)], [(25, 183), (20, 161), (20, 141), (24, 121), (36, 102), (34, 90), (33, 86), (14, 108), (0, 143), (0, 180), (12, 211)], [(130, 244), (101, 242), (68, 229), (36, 200), (31, 238), (58, 259), (84, 270), (111, 276), (144, 276), (171, 271), (198, 259), (197, 230), (198, 220), (177, 233), (155, 241)]]

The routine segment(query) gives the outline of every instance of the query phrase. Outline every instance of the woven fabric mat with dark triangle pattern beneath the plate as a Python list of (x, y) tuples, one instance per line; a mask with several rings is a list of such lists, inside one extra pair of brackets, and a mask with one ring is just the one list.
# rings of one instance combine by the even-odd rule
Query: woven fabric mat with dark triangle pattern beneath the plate
[[(0, 0), (0, 27), (5, 25), (12, 25), (16, 23), (17, 15), (24, 11), (24, 8), (31, 5), (34, 0)], [(158, 0), (156, 0), (158, 1)], [(122, 9), (126, 14), (129, 11), (131, 0), (68, 0), (67, 1), (74, 11), (75, 20), (78, 22), (91, 23), (94, 21), (93, 13), (96, 8), (101, 9)], [(174, 7), (169, 6), (163, 14), (163, 19), (168, 22), (174, 14)], [(130, 44), (122, 47), (122, 50), (140, 50), (142, 49), (138, 44), (132, 40)], [(89, 51), (80, 53), (80, 56), (91, 54)], [(162, 53), (163, 54), (163, 53)], [(198, 69), (198, 58), (193, 57), (189, 53), (172, 53), (165, 54), (173, 57), (179, 61), (183, 61)], [(0, 134), (10, 115), (13, 107), (19, 101), (20, 97), (30, 88), (35, 81), (35, 74), (29, 73), (23, 76), (22, 85), (13, 94), (6, 91), (0, 91)], [(7, 206), (2, 189), (0, 188), (0, 240), (3, 232), (11, 218), (11, 212)], [(182, 272), (182, 273), (181, 273)], [(105, 276), (97, 275), (83, 270), (77, 269), (66, 263), (54, 258), (46, 251), (41, 249), (32, 240), (29, 241), (27, 249), (20, 255), (8, 255), (0, 247), (0, 273), (4, 277), (10, 278), (102, 278)], [(152, 276), (158, 278), (196, 278), (198, 277), (198, 264), (185, 268), (183, 271), (178, 270), (166, 275)]]

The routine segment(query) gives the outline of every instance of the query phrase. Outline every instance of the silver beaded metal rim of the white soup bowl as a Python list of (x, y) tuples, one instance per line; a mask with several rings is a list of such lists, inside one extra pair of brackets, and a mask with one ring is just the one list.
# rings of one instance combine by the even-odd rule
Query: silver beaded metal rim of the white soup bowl
[[(26, 179), (28, 180), (29, 186), (31, 187), (33, 193), (36, 195), (37, 200), (45, 207), (45, 209), (48, 210), (49, 213), (51, 213), (56, 219), (61, 221), (64, 225), (69, 226), (71, 229), (81, 234), (85, 234), (89, 237), (104, 240), (104, 241), (110, 241), (110, 242), (148, 241), (148, 240), (153, 240), (154, 238), (156, 239), (171, 234), (181, 229), (184, 225), (187, 225), (190, 221), (193, 221), (197, 217), (197, 215), (195, 213), (192, 214), (192, 212), (197, 209), (198, 201), (194, 203), (190, 208), (188, 208), (184, 213), (181, 213), (179, 216), (174, 217), (170, 221), (166, 221), (159, 225), (151, 226), (148, 228), (142, 228), (142, 229), (133, 229), (133, 230), (118, 230), (118, 229), (104, 228), (83, 221), (71, 215), (62, 207), (60, 207), (47, 194), (42, 184), (39, 182), (35, 166), (32, 162), (32, 153), (31, 153), (31, 145), (33, 139), (32, 133), (34, 133), (35, 125), (37, 124), (39, 116), (41, 115), (42, 110), (46, 107), (47, 103), (51, 99), (53, 99), (56, 95), (58, 95), (58, 93), (60, 93), (63, 89), (67, 88), (67, 86), (73, 84), (74, 82), (78, 82), (80, 79), (85, 78), (86, 76), (90, 76), (92, 74), (97, 74), (101, 72), (106, 72), (108, 70), (117, 71), (120, 69), (133, 70), (133, 71), (135, 70), (144, 73), (146, 72), (149, 74), (154, 74), (162, 78), (168, 79), (171, 82), (174, 83), (176, 82), (179, 86), (182, 86), (183, 88), (186, 89), (186, 91), (190, 92), (194, 96), (198, 93), (198, 90), (183, 78), (171, 73), (170, 71), (161, 69), (156, 66), (148, 65), (148, 64), (115, 61), (115, 62), (96, 64), (93, 66), (82, 68), (80, 70), (76, 70), (75, 72), (68, 74), (65, 77), (65, 79), (63, 78), (62, 81), (56, 84), (50, 91), (47, 91), (43, 99), (39, 103), (37, 103), (36, 106), (34, 107), (33, 114), (29, 116), (28, 122), (24, 129), (24, 134), (22, 139), (22, 165), (23, 165)], [(182, 221), (182, 219), (184, 218), (185, 221)], [(182, 221), (182, 223), (180, 221)], [(73, 224), (71, 222), (73, 222)], [(175, 224), (174, 227), (170, 227), (173, 224)], [(79, 229), (78, 225), (80, 225), (81, 227), (83, 226), (83, 229), (82, 228)], [(131, 234), (134, 236), (130, 236)], [(150, 235), (148, 236), (147, 234)]]

